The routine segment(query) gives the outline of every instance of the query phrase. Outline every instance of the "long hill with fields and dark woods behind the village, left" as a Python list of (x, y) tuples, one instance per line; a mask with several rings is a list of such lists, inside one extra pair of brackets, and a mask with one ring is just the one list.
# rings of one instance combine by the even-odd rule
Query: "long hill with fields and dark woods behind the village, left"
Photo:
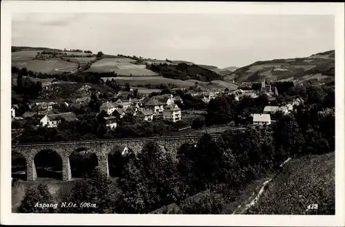
[(195, 82), (204, 82), (200, 83), (204, 89), (237, 88), (223, 79), (230, 71), (220, 70), (216, 66), (199, 66), (189, 61), (146, 59), (135, 55), (97, 57), (90, 51), (12, 46), (12, 66), (19, 70), (27, 68), (34, 73), (45, 73), (40, 79), (52, 79), (55, 75), (64, 73), (68, 74), (69, 78), (75, 78), (68, 79), (72, 82), (89, 81), (82, 77), (112, 77), (121, 84), (128, 82), (131, 86), (172, 83), (180, 88), (189, 88), (194, 86)]

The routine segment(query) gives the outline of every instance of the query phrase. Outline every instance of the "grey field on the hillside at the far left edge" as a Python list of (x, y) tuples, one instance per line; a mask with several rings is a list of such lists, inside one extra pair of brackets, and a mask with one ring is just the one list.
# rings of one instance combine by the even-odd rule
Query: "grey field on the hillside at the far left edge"
[(26, 67), (28, 70), (33, 72), (42, 72), (50, 74), (59, 74), (62, 72), (72, 72), (77, 70), (77, 63), (71, 63), (68, 61), (41, 61), (41, 60), (30, 60), (22, 63), (12, 62), (12, 65), (18, 68)]

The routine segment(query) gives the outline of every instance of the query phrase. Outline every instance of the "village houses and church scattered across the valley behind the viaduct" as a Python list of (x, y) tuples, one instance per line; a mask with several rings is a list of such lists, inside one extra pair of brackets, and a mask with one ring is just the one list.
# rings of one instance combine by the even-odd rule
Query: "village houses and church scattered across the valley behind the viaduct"
[[(88, 85), (83, 86), (83, 89), (88, 89)], [(183, 89), (182, 89), (183, 90)], [(216, 99), (221, 96), (233, 96), (236, 101), (239, 101), (242, 97), (250, 97), (255, 99), (259, 95), (265, 94), (268, 97), (268, 101), (275, 101), (278, 97), (278, 90), (276, 87), (270, 85), (262, 78), (260, 90), (183, 90), (186, 95), (199, 98), (206, 105), (212, 99)], [(139, 99), (132, 97), (133, 90), (120, 91), (114, 97), (108, 99), (101, 99), (102, 104), (99, 107), (99, 113), (106, 113), (106, 117), (103, 117), (104, 124), (110, 129), (117, 128), (119, 119), (122, 119), (125, 115), (136, 117), (139, 121), (152, 121), (153, 119), (164, 119), (173, 123), (184, 119), (183, 113), (188, 114), (188, 110), (181, 110), (178, 104), (183, 104), (183, 100), (177, 94), (172, 91), (173, 94), (164, 95), (140, 95)], [(81, 97), (78, 99), (37, 99), (28, 103), (30, 110), (23, 113), (21, 116), (16, 115), (18, 105), (12, 105), (12, 121), (22, 119), (39, 118), (39, 124), (36, 126), (46, 126), (48, 128), (59, 126), (61, 119), (65, 121), (77, 121), (77, 116), (73, 112), (63, 112), (63, 108), (81, 106), (88, 106), (91, 97)], [(294, 106), (299, 106), (304, 103), (302, 98), (296, 98), (285, 105), (280, 106), (265, 106), (263, 112), (253, 112), (250, 117), (253, 118), (251, 124), (253, 125), (269, 125), (274, 120), (272, 115), (275, 112), (282, 112), (284, 115), (293, 111)], [(196, 112), (197, 110), (189, 110), (190, 112)], [(206, 111), (199, 111), (205, 113)]]

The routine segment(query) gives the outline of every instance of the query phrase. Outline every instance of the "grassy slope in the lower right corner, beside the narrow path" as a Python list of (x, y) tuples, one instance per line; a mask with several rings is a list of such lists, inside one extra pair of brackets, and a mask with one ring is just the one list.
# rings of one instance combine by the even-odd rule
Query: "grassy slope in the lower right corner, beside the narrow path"
[[(309, 204), (317, 210), (306, 211)], [(334, 215), (335, 152), (295, 159), (247, 211), (255, 215)]]

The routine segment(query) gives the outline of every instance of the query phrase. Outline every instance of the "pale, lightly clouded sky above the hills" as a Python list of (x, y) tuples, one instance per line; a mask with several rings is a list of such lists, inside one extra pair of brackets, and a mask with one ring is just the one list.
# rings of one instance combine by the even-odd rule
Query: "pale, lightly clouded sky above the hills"
[(253, 14), (13, 14), (12, 46), (102, 51), (225, 68), (335, 49), (334, 17)]

